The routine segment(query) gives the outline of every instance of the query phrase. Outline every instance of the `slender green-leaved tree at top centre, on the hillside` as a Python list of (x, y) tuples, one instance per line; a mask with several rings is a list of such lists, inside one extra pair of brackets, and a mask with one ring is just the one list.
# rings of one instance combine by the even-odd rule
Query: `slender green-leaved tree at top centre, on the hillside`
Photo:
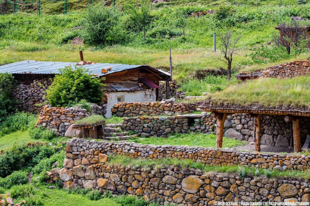
[(141, 0), (141, 6), (134, 5), (132, 2), (125, 2), (123, 9), (139, 27), (142, 28), (145, 40), (146, 27), (150, 22), (151, 2), (149, 0)]

